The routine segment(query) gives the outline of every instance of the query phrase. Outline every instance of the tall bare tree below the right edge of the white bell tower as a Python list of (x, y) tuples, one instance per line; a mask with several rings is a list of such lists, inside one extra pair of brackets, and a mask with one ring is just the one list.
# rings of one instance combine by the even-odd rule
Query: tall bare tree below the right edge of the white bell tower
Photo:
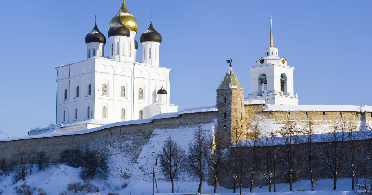
[(279, 133), (283, 136), (282, 140), (285, 147), (280, 159), (287, 165), (287, 171), (289, 174), (289, 191), (292, 191), (295, 162), (298, 157), (297, 144), (299, 143), (299, 131), (296, 129), (296, 122), (291, 121), (288, 118)]

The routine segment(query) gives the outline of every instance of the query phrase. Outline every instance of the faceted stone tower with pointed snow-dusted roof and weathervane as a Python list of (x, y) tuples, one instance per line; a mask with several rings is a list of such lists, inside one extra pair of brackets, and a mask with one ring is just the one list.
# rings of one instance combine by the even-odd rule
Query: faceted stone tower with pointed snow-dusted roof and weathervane
[(231, 68), (217, 88), (218, 131), (224, 137), (225, 147), (233, 142), (231, 130), (243, 128), (244, 89)]

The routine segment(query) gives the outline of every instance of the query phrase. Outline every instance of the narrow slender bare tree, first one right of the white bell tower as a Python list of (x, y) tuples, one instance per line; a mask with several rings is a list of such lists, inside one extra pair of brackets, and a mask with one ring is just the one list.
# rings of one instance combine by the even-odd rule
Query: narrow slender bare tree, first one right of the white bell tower
[(305, 127), (302, 131), (304, 134), (304, 141), (307, 143), (306, 155), (307, 155), (307, 161), (309, 162), (309, 169), (310, 169), (310, 182), (311, 182), (311, 191), (314, 191), (314, 172), (312, 167), (312, 162), (314, 160), (314, 153), (313, 153), (313, 136), (315, 131), (315, 122), (312, 120), (311, 117), (308, 118), (306, 121)]

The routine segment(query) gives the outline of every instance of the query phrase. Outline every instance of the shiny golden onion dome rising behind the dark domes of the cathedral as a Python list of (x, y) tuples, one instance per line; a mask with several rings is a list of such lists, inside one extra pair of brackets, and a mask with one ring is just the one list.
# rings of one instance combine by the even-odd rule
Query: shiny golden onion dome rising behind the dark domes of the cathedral
[(123, 0), (123, 4), (121, 5), (120, 11), (111, 19), (110, 21), (110, 28), (118, 22), (118, 17), (120, 16), (121, 22), (126, 26), (129, 30), (133, 30), (135, 32), (138, 31), (138, 22), (131, 13), (129, 13), (128, 9), (125, 6), (125, 0)]

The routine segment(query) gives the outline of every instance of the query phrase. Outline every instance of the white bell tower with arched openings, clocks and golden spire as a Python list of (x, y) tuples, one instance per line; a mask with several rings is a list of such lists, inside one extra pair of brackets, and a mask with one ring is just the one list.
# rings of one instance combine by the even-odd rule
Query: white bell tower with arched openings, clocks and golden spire
[[(270, 17), (272, 18), (272, 17)], [(273, 23), (270, 22), (270, 47), (265, 56), (250, 67), (251, 94), (245, 100), (265, 100), (265, 104), (298, 104), (298, 96), (293, 89), (293, 71), (285, 58), (280, 58), (273, 46)]]

